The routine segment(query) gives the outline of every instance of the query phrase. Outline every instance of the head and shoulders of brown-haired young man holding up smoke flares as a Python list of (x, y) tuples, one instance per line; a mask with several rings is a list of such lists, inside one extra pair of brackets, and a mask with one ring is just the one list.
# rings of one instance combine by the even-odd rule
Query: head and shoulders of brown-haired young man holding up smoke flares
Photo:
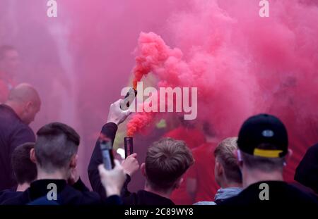
[(184, 142), (171, 138), (154, 142), (147, 150), (145, 163), (141, 164), (141, 172), (146, 177), (145, 187), (139, 192), (130, 193), (126, 184), (124, 204), (174, 205), (170, 196), (179, 187), (182, 175), (193, 162), (192, 153)]

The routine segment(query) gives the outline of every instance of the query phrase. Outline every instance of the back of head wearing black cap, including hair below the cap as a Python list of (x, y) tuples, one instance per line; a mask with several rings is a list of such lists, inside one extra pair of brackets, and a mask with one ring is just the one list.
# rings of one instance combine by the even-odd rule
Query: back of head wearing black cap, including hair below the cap
[(247, 168), (266, 173), (283, 170), (288, 154), (287, 130), (273, 115), (254, 115), (243, 123), (237, 146)]

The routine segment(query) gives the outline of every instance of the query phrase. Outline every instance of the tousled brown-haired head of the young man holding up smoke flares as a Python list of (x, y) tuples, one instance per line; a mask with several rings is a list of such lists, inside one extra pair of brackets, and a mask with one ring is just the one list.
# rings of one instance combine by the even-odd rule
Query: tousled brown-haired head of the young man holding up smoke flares
[(147, 181), (155, 190), (171, 189), (193, 163), (192, 153), (184, 142), (160, 139), (146, 154)]

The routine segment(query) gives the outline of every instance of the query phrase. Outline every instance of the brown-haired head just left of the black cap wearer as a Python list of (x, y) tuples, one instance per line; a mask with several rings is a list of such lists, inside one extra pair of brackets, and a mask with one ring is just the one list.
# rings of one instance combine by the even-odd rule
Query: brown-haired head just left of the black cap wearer
[(237, 150), (237, 137), (224, 139), (214, 150), (214, 156), (223, 166), (226, 179), (232, 183), (242, 183), (242, 174), (237, 163), (235, 151)]

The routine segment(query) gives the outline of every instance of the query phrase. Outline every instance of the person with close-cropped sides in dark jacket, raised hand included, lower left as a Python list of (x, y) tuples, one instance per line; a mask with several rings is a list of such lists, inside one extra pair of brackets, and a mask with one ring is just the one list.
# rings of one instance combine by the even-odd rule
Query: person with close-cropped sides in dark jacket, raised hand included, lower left
[(73, 128), (63, 123), (49, 123), (37, 131), (35, 148), (31, 149), (31, 160), (37, 166), (37, 180), (6, 205), (29, 204), (38, 199), (59, 205), (122, 204), (120, 189), (126, 176), (121, 165), (107, 171), (98, 167), (98, 177), (108, 192), (107, 199), (90, 192), (77, 174), (77, 151), (80, 137)]

